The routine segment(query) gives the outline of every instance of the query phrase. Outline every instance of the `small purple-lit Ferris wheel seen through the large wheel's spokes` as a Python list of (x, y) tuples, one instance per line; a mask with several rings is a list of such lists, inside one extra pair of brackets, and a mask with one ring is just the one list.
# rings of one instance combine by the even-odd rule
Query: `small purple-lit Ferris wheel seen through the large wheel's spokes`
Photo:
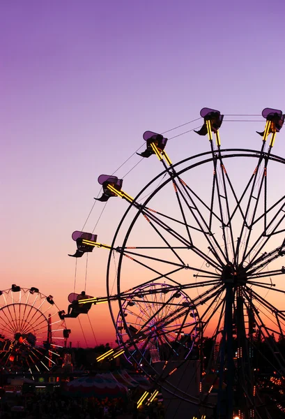
[[(128, 318), (127, 318), (128, 316)], [(131, 348), (125, 324), (137, 340)], [(125, 357), (141, 365), (186, 359), (199, 337), (199, 316), (190, 297), (176, 284), (149, 283), (134, 290), (123, 302), (116, 321), (117, 341), (128, 346)]]

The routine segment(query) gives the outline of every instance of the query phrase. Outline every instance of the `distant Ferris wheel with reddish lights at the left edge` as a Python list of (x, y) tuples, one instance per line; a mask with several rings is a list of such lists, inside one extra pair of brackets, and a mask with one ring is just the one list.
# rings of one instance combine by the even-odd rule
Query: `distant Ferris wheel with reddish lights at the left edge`
[(47, 372), (59, 363), (70, 333), (52, 295), (13, 286), (0, 291), (0, 367), (6, 372)]

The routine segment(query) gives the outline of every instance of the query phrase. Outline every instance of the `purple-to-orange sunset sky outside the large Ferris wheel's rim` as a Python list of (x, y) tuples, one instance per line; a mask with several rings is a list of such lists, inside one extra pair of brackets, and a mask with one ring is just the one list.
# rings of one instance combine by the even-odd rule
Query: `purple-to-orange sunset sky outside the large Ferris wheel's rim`
[[(1, 289), (36, 286), (66, 309), (75, 282), (71, 234), (100, 193), (98, 176), (132, 156), (144, 131), (170, 130), (204, 106), (224, 114), (284, 112), (284, 16), (283, 0), (1, 1)], [(259, 148), (254, 131), (263, 126), (225, 124), (221, 135), (229, 147)], [(275, 154), (285, 156), (280, 135)], [(183, 159), (207, 147), (190, 132), (171, 155)], [(133, 155), (116, 175), (139, 160)], [(132, 196), (161, 170), (148, 160), (125, 177)], [(85, 230), (100, 217), (95, 233), (110, 243), (123, 207), (108, 203), (100, 217), (96, 203)], [(95, 249), (87, 272), (86, 258), (78, 260), (75, 291), (86, 278), (86, 293), (106, 295), (107, 257)], [(98, 344), (114, 342), (107, 306), (93, 307), (90, 318)], [(83, 316), (82, 325), (93, 346)], [(86, 346), (77, 319), (68, 327), (72, 343)]]

